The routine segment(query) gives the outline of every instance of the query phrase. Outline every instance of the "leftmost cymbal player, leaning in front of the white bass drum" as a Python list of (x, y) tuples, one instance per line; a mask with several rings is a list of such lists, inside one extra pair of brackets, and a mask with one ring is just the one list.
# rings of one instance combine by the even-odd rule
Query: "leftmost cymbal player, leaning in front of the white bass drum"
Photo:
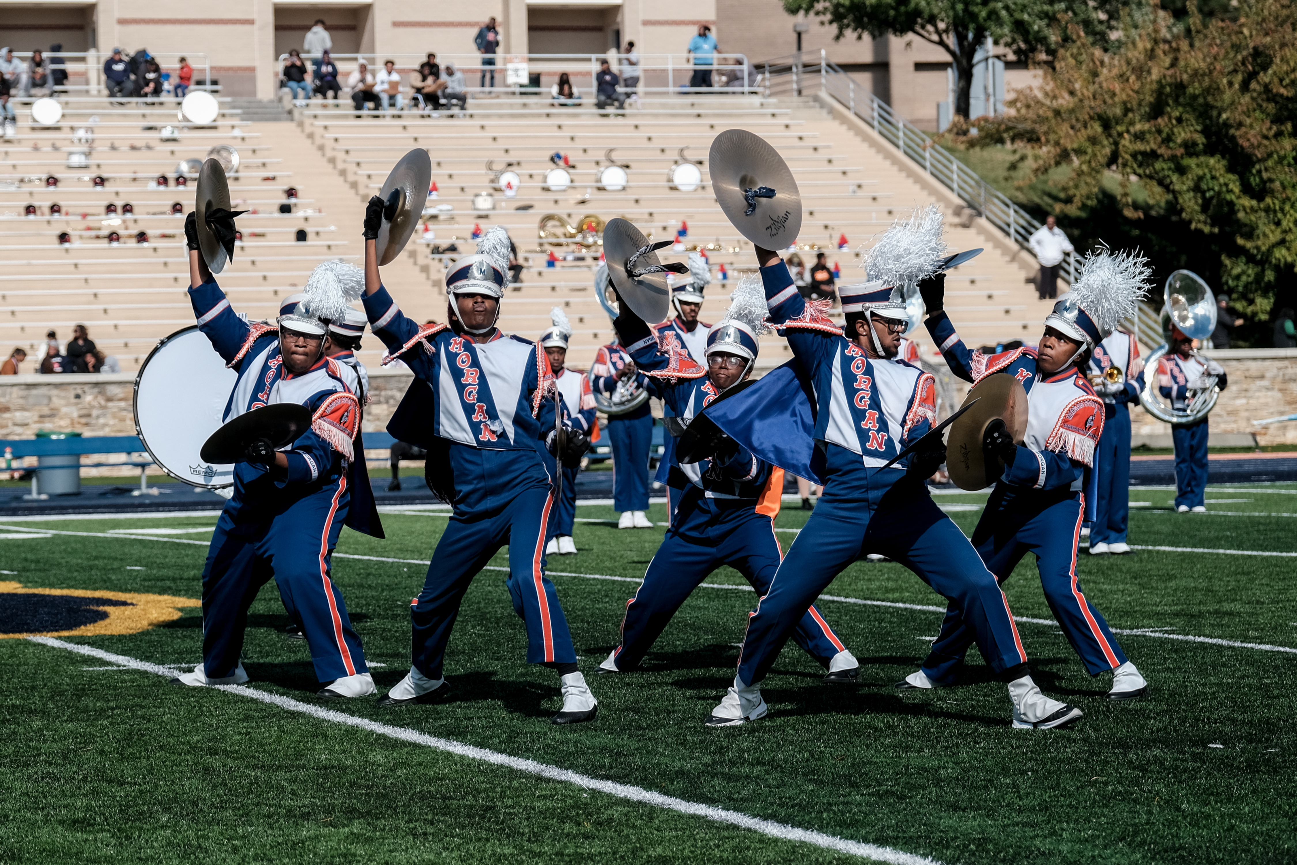
[(342, 524), (383, 537), (364, 471), (355, 456), (361, 402), (355, 375), (326, 357), (326, 323), (341, 314), (344, 293), (359, 289), (359, 271), (324, 262), (301, 300), (271, 324), (249, 324), (230, 301), (198, 252), (195, 214), (184, 226), (189, 249), (189, 300), (200, 329), (239, 372), (224, 420), (266, 405), (297, 402), (311, 410), (311, 427), (291, 449), (262, 438), (235, 466), (233, 495), (217, 521), (202, 571), (202, 663), (175, 682), (239, 685), (248, 608), (274, 576), (289, 617), (311, 650), (320, 696), (374, 694), (361, 638), (351, 628), (331, 560)]

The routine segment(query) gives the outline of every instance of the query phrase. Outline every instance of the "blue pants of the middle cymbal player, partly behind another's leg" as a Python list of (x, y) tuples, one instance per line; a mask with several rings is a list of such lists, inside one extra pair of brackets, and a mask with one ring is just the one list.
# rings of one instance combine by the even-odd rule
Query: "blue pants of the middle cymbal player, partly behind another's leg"
[[(764, 595), (782, 559), (774, 524), (755, 511), (754, 502), (722, 504), (696, 488), (671, 492), (678, 508), (674, 520), (621, 621), (615, 661), (623, 672), (639, 667), (685, 598), (712, 571), (728, 564)], [(825, 669), (846, 648), (815, 607), (802, 616), (792, 639)]]

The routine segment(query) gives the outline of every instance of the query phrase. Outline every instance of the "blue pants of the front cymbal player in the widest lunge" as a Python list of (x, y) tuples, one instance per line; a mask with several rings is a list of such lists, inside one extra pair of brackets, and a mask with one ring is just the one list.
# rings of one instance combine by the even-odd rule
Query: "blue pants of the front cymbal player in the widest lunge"
[(811, 603), (847, 565), (870, 552), (904, 564), (938, 594), (968, 610), (978, 647), (992, 659), (996, 672), (1026, 663), (999, 584), (926, 490), (900, 481), (890, 488), (872, 486), (861, 498), (844, 499), (833, 495), (835, 482), (830, 480), (825, 498), (748, 619), (738, 665), (738, 677), (744, 683), (765, 678)]

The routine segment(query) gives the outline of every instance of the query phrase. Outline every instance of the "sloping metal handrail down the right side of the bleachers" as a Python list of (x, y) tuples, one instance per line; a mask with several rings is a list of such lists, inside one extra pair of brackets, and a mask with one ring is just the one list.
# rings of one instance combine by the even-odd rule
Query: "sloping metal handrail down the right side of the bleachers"
[[(804, 62), (804, 54), (787, 54), (757, 64), (767, 96), (802, 96), (808, 88), (829, 96), (853, 117), (860, 118), (878, 135), (895, 145), (903, 154), (918, 163), (933, 179), (962, 198), (992, 226), (1006, 233), (1016, 244), (1031, 250), (1031, 235), (1041, 223), (1019, 207), (1008, 196), (991, 187), (973, 169), (936, 144), (917, 126), (896, 114), (892, 108), (874, 96), (840, 66), (831, 62), (820, 49), (820, 61)], [(1032, 253), (1034, 254), (1034, 253)], [(1060, 275), (1073, 283), (1077, 276), (1077, 253), (1062, 261)]]

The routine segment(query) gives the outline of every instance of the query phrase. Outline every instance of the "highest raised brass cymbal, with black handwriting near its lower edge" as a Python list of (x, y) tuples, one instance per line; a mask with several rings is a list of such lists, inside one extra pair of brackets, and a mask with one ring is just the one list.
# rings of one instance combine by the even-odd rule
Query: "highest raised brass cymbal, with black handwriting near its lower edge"
[(707, 157), (712, 192), (739, 233), (783, 249), (802, 231), (802, 193), (778, 150), (747, 130), (725, 130)]

